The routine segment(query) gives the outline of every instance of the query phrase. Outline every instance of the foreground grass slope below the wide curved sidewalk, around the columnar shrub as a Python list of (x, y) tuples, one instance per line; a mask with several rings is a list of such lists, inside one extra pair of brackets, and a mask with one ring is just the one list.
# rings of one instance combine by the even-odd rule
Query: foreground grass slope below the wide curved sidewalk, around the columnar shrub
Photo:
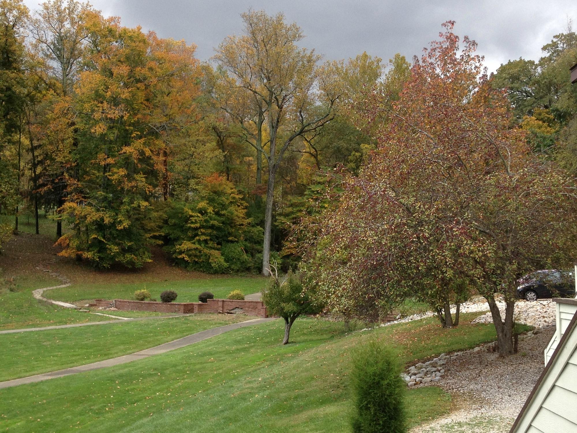
[[(342, 334), (342, 324), (299, 319), (280, 346), (282, 320), (231, 331), (188, 348), (0, 390), (0, 430), (13, 432), (350, 431), (349, 354), (378, 336), (403, 363), (494, 339), (490, 325), (443, 330), (433, 319)], [(429, 336), (428, 343), (422, 344)], [(446, 413), (436, 387), (410, 390), (411, 423)]]

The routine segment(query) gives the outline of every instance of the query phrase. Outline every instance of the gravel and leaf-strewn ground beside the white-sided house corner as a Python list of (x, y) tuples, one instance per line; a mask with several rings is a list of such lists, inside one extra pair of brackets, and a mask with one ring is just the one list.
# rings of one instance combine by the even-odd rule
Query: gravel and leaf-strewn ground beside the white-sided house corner
[(512, 356), (479, 350), (452, 359), (436, 386), (452, 395), (454, 411), (411, 433), (507, 433), (545, 367), (554, 330), (523, 339)]

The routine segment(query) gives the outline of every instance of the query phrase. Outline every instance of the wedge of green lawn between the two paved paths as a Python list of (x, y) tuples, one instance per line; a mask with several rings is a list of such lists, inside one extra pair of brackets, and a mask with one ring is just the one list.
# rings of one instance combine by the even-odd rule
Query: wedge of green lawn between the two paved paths
[(186, 335), (252, 319), (198, 314), (170, 319), (0, 334), (0, 382), (138, 352)]

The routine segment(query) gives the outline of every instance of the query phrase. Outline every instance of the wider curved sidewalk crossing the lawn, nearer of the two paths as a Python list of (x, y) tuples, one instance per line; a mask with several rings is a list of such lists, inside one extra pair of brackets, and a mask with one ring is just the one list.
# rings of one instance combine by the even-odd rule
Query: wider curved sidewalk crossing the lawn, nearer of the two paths
[(85, 371), (92, 371), (99, 368), (112, 367), (113, 365), (120, 365), (136, 361), (138, 359), (148, 358), (149, 356), (158, 355), (161, 353), (169, 352), (170, 350), (180, 349), (185, 346), (203, 341), (207, 338), (215, 337), (216, 335), (226, 333), (227, 331), (232, 331), (235, 329), (243, 328), (246, 326), (253, 326), (259, 323), (270, 322), (275, 318), (266, 319), (252, 319), (246, 320), (245, 322), (233, 323), (229, 325), (219, 326), (212, 329), (207, 329), (205, 331), (200, 331), (196, 334), (188, 335), (187, 337), (182, 337), (168, 343), (155, 346), (150, 349), (141, 350), (140, 352), (119, 356), (117, 358), (107, 359), (104, 361), (99, 361), (98, 363), (80, 365), (78, 367), (65, 368), (63, 370), (53, 371), (49, 373), (38, 374), (35, 376), (28, 376), (27, 378), (13, 379), (6, 382), (0, 382), (0, 389), (9, 388), (11, 386), (24, 385), (25, 383), (42, 382), (43, 380), (60, 378), (62, 376), (68, 376), (77, 373), (83, 373)]

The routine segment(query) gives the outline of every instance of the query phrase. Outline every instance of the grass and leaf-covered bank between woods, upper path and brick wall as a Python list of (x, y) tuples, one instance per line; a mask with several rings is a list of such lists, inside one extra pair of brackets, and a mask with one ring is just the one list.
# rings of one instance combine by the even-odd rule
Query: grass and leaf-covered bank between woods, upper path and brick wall
[[(140, 270), (97, 271), (85, 263), (58, 257), (54, 247), (55, 223), (40, 219), (40, 235), (33, 233), (33, 225), (20, 219), (21, 233), (2, 245), (0, 253), (0, 330), (40, 327), (57, 324), (99, 322), (106, 316), (91, 315), (62, 309), (32, 297), (32, 290), (58, 285), (60, 282), (36, 270), (39, 264), (49, 264), (51, 270), (66, 275), (72, 286), (55, 289), (48, 297), (66, 301), (93, 298), (132, 298), (134, 290), (147, 288), (152, 296), (168, 288), (179, 293), (178, 301), (198, 301), (198, 293), (212, 290), (216, 296), (226, 296), (232, 289), (244, 293), (258, 292), (265, 284), (259, 277), (222, 277), (192, 273), (172, 266), (161, 251), (154, 251), (154, 263)], [(33, 219), (31, 219), (33, 221)], [(137, 315), (149, 315), (148, 313)], [(132, 317), (127, 313), (123, 316)]]

